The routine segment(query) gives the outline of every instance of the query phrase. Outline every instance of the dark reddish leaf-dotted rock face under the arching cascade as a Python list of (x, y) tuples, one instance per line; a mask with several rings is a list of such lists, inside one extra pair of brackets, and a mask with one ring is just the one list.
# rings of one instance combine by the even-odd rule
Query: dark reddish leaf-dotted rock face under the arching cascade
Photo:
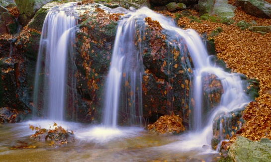
[[(189, 88), (192, 71), (183, 67), (190, 58), (185, 44), (183, 54), (172, 42), (166, 41), (167, 31), (159, 22), (145, 18), (148, 23), (142, 39), (145, 40), (143, 64), (145, 74), (142, 81), (143, 113), (145, 118), (155, 118), (174, 113), (188, 123)], [(189, 75), (188, 75), (189, 74)]]

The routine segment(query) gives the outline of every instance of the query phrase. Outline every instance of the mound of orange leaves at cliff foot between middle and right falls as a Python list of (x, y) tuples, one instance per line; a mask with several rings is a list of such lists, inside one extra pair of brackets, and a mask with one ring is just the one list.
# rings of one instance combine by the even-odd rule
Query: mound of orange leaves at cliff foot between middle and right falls
[(171, 135), (181, 133), (185, 130), (182, 125), (182, 119), (179, 115), (161, 116), (155, 123), (149, 124), (147, 129), (151, 133), (160, 135)]

